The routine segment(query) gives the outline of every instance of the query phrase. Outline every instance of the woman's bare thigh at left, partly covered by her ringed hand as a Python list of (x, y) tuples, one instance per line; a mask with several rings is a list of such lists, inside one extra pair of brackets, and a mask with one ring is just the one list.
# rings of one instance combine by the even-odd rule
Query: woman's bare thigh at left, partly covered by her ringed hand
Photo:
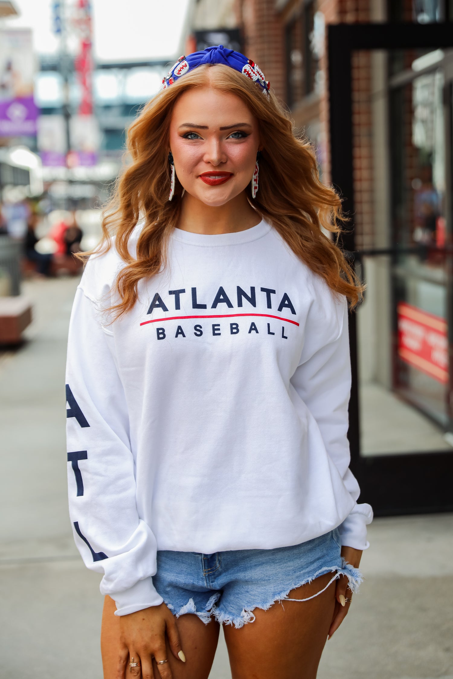
[[(120, 651), (120, 619), (115, 615), (115, 602), (106, 596), (101, 629), (101, 653), (104, 679), (117, 679), (117, 658)], [(167, 644), (168, 663), (173, 679), (208, 679), (219, 640), (219, 625), (214, 620), (208, 625), (196, 615), (187, 613), (177, 619), (185, 663), (175, 659)], [(160, 674), (153, 665), (154, 677)]]

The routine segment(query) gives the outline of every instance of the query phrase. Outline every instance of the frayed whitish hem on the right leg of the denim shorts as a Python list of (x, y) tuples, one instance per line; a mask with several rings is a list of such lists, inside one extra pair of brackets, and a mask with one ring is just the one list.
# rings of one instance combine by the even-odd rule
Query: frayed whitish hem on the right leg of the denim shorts
[[(310, 597), (307, 597), (306, 599), (289, 599), (288, 594), (291, 591), (291, 589), (297, 589), (297, 587), (302, 587), (302, 585), (307, 585), (308, 583), (311, 583), (313, 580), (316, 580), (316, 578), (319, 578), (319, 576), (325, 574), (325, 573), (335, 573), (333, 577), (329, 580), (329, 583), (321, 589), (321, 591), (317, 592), (316, 594), (313, 594)], [(242, 612), (238, 616), (234, 616), (232, 614), (229, 614), (227, 612), (223, 612), (219, 610), (216, 606), (215, 603), (213, 607), (211, 608), (211, 614), (215, 617), (217, 622), (220, 625), (234, 625), (236, 629), (239, 629), (240, 627), (243, 627), (244, 625), (247, 625), (247, 623), (253, 623), (255, 621), (255, 615), (253, 614), (253, 610), (255, 608), (261, 608), (261, 610), (268, 610), (271, 606), (273, 606), (276, 602), (280, 601), (309, 601), (310, 599), (314, 599), (315, 597), (319, 596), (323, 591), (333, 583), (334, 580), (338, 580), (342, 575), (346, 575), (348, 578), (348, 585), (350, 590), (357, 594), (359, 592), (359, 585), (363, 582), (363, 577), (361, 572), (359, 571), (358, 568), (354, 568), (350, 564), (348, 564), (343, 558), (342, 558), (342, 568), (338, 568), (338, 566), (333, 566), (329, 567), (326, 566), (325, 568), (321, 568), (319, 571), (317, 571), (311, 578), (308, 578), (300, 583), (295, 583), (289, 587), (285, 592), (281, 592), (271, 602), (268, 602), (267, 604), (256, 604), (253, 606), (253, 608), (242, 608)], [(206, 606), (208, 608), (208, 606)]]

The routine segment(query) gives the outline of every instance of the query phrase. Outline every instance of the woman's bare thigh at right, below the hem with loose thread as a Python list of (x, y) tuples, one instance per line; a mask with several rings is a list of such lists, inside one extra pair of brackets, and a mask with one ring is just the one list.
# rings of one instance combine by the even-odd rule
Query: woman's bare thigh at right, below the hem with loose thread
[[(321, 591), (327, 573), (289, 593), (304, 599)], [(255, 608), (255, 621), (236, 629), (224, 625), (232, 679), (315, 679), (335, 606), (335, 582), (305, 602), (276, 602), (268, 610)]]

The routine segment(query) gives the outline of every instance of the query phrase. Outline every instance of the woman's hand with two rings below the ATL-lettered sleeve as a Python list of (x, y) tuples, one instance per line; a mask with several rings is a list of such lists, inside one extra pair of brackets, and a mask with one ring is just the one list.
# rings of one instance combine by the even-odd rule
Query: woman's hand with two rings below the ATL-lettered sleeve
[[(153, 674), (152, 659), (154, 657), (156, 662), (167, 659), (165, 636), (175, 658), (185, 663), (176, 619), (165, 604), (120, 616), (122, 650), (118, 659), (117, 679), (129, 676), (157, 679)], [(129, 667), (132, 658), (134, 663), (141, 663), (141, 666)], [(172, 679), (170, 663), (158, 665), (158, 670), (162, 679)]]

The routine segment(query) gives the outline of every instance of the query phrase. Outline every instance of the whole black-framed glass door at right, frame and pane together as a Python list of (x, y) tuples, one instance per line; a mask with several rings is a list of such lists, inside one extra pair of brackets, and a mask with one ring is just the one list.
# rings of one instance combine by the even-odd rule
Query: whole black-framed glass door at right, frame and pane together
[(367, 285), (350, 321), (352, 467), (380, 514), (453, 509), (450, 26), (329, 26), (332, 180)]

